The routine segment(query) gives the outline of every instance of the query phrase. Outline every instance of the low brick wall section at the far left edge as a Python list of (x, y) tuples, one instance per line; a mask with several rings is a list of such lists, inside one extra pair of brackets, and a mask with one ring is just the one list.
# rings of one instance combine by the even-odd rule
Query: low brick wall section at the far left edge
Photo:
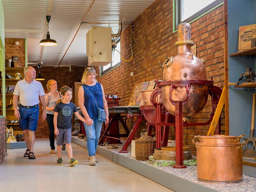
[(6, 120), (0, 119), (0, 164), (6, 156)]

